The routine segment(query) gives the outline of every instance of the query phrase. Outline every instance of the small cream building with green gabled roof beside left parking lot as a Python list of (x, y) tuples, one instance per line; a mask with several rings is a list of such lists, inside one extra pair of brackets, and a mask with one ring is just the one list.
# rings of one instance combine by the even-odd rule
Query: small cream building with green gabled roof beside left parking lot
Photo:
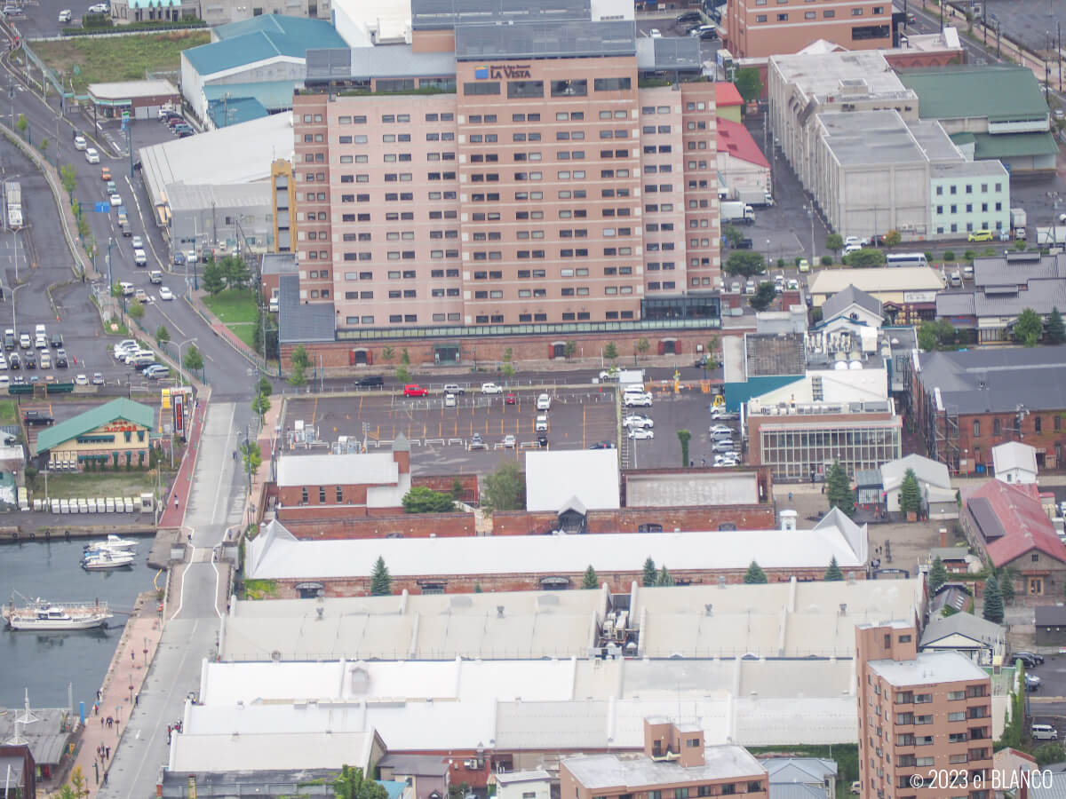
[(111, 469), (147, 467), (155, 423), (156, 411), (147, 405), (112, 399), (43, 430), (34, 453), (48, 452), (50, 469), (82, 471), (87, 461)]

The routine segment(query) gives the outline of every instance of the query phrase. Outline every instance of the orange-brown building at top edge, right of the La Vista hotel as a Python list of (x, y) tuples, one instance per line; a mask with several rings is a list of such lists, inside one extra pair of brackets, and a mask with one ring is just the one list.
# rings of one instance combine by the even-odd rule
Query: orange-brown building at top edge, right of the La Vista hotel
[(849, 50), (892, 46), (892, 3), (885, 0), (728, 0), (725, 45), (739, 58), (794, 53), (826, 39)]

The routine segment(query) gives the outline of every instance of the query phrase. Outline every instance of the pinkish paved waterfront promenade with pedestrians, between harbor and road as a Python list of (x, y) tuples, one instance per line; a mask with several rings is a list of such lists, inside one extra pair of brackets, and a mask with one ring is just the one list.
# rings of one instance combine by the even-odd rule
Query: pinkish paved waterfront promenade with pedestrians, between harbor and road
[(99, 702), (85, 708), (85, 727), (74, 766), (81, 766), (87, 799), (96, 796), (101, 783), (107, 784), (108, 769), (126, 732), (132, 707), (140, 701), (148, 665), (156, 656), (163, 634), (155, 598), (142, 594), (142, 600), (136, 615), (126, 624), (111, 668), (103, 678)]

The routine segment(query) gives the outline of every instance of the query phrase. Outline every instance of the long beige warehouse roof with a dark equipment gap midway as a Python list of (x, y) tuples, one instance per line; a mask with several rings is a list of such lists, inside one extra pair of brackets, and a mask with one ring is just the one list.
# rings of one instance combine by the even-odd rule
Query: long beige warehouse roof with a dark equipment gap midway
[(671, 586), (628, 593), (233, 600), (224, 661), (585, 657), (851, 657), (854, 627), (923, 615), (919, 580)]

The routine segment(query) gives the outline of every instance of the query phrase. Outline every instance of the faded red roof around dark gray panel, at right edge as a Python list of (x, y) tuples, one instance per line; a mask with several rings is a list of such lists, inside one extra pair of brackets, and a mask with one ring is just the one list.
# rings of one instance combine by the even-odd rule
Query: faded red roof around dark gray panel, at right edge
[(1066, 564), (1066, 545), (1059, 540), (1054, 524), (1044, 512), (1036, 486), (991, 479), (970, 493), (966, 502), (978, 498), (988, 501), (1005, 531), (1000, 538), (985, 542), (994, 566), (1004, 566), (1033, 550)]

